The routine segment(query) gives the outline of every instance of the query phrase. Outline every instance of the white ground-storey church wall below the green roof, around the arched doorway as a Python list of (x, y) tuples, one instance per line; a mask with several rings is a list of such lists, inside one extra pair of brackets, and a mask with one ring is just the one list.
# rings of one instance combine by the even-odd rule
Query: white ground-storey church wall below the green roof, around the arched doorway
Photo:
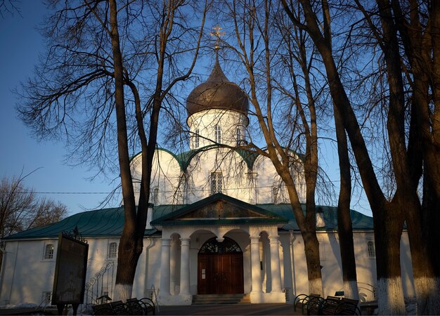
[[(212, 228), (214, 229), (214, 227)], [(251, 290), (250, 271), (250, 231), (245, 228), (211, 228), (205, 230), (193, 230), (193, 228), (179, 228), (180, 237), (190, 237), (190, 293), (197, 294), (197, 256), (202, 244), (207, 239), (219, 236), (234, 239), (243, 251), (243, 270), (245, 293)], [(254, 235), (257, 231), (268, 231), (269, 228), (248, 228)], [(176, 232), (169, 232), (173, 234)], [(264, 235), (264, 234), (263, 234)], [(306, 260), (304, 254), (304, 243), (299, 233), (293, 233), (293, 244), (290, 243), (289, 232), (280, 232), (280, 269), (282, 287), (292, 289), (290, 296), (309, 293), (307, 281)], [(358, 287), (362, 301), (372, 301), (373, 287), (376, 284), (375, 258), (368, 257), (367, 242), (373, 239), (373, 232), (354, 232), (356, 272)], [(324, 296), (334, 295), (335, 291), (342, 291), (342, 272), (340, 266), (339, 240), (335, 232), (318, 232), (320, 242), (321, 265), (323, 265), (323, 290)], [(1, 294), (0, 303), (40, 303), (42, 294), (45, 291), (52, 291), (53, 275), (55, 272), (55, 258), (44, 260), (44, 246), (48, 242), (56, 246), (56, 239), (11, 241), (6, 243), (6, 256), (1, 270)], [(107, 249), (109, 242), (118, 242), (118, 239), (100, 238), (88, 239), (89, 261), (86, 275), (86, 282), (89, 282), (96, 272), (99, 272), (103, 265), (109, 261)], [(261, 251), (267, 251), (261, 249)], [(292, 251), (293, 250), (293, 251)], [(179, 251), (176, 251), (179, 256)], [(160, 287), (160, 262), (161, 242), (160, 237), (147, 237), (144, 239), (144, 249), (138, 261), (136, 277), (134, 280), (133, 296), (138, 298), (148, 296), (148, 291)], [(265, 260), (268, 254), (264, 254), (261, 260)], [(294, 259), (293, 264), (290, 258)], [(116, 273), (116, 259), (113, 270), (114, 278)], [(410, 251), (408, 235), (403, 232), (401, 241), (401, 267), (403, 291), (406, 297), (415, 296), (413, 287), (413, 275), (411, 272)], [(270, 269), (270, 265), (265, 266)], [(264, 275), (264, 273), (263, 273)], [(178, 273), (179, 276), (179, 273)], [(270, 278), (266, 282), (270, 282)], [(179, 278), (175, 282), (176, 293), (179, 290)], [(267, 284), (270, 286), (270, 283)], [(265, 289), (265, 287), (264, 287)]]

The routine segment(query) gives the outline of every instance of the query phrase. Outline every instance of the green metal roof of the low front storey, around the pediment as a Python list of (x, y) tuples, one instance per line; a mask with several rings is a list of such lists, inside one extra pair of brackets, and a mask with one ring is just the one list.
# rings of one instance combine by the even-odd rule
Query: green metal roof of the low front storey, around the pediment
[[(266, 223), (283, 223), (283, 230), (299, 230), (298, 225), (294, 219), (292, 208), (290, 204), (257, 204), (251, 205), (245, 202), (233, 199), (226, 195), (221, 195), (226, 202), (233, 202), (235, 205), (243, 208), (250, 208), (252, 211), (268, 215), (271, 219), (267, 219)], [(159, 223), (159, 220), (171, 220), (179, 216), (183, 216), (188, 212), (202, 207), (214, 200), (219, 199), (219, 196), (213, 195), (202, 199), (189, 205), (159, 205), (155, 206), (153, 213), (153, 221)], [(317, 206), (321, 207), (325, 228), (320, 230), (337, 230), (337, 208), (333, 206)], [(304, 206), (303, 206), (304, 209)], [(212, 223), (206, 220), (199, 220), (193, 222), (195, 225), (215, 225), (215, 224), (237, 224), (237, 223), (264, 223), (263, 219), (233, 221), (231, 219), (211, 220)], [(373, 218), (365, 216), (362, 213), (351, 210), (351, 220), (353, 230), (373, 230)], [(170, 222), (171, 223), (171, 222)], [(32, 228), (24, 232), (18, 232), (4, 238), (5, 240), (13, 239), (40, 239), (40, 238), (56, 238), (58, 234), (63, 231), (70, 232), (78, 228), (82, 237), (119, 237), (122, 233), (124, 225), (124, 206), (112, 209), (98, 209), (96, 211), (85, 211), (69, 216), (58, 223), (42, 226), (39, 228)], [(145, 236), (160, 234), (155, 229), (145, 230)]]

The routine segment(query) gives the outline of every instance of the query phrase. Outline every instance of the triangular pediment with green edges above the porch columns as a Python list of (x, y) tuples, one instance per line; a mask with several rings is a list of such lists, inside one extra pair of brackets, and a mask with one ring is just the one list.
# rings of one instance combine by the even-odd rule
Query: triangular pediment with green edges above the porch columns
[(221, 193), (157, 218), (152, 225), (286, 223), (287, 218)]

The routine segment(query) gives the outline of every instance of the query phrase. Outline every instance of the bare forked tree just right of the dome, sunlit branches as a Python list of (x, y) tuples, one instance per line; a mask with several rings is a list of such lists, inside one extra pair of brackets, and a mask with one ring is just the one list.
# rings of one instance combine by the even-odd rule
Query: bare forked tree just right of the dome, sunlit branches
[[(283, 180), (295, 220), (304, 239), (309, 291), (322, 293), (321, 261), (316, 237), (318, 126), (311, 85), (313, 51), (306, 51), (304, 32), (277, 23), (280, 5), (271, 1), (226, 1), (233, 37), (229, 48), (245, 71), (245, 84), (258, 122), (263, 150), (251, 142), (243, 149), (271, 159)], [(280, 29), (282, 34), (279, 34)], [(286, 76), (287, 74), (287, 76)], [(299, 83), (301, 82), (301, 84)], [(304, 86), (304, 88), (302, 88)], [(315, 87), (316, 88), (316, 87)], [(304, 152), (299, 158), (295, 152)], [(298, 178), (298, 173), (304, 178)], [(306, 212), (300, 187), (305, 182)]]

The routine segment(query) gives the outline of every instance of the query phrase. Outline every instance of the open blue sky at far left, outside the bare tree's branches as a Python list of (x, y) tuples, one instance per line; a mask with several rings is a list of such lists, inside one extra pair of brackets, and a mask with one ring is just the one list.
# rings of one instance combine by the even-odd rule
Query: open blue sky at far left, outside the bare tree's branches
[[(68, 192), (39, 195), (67, 205), (70, 214), (94, 209), (106, 195), (93, 192), (110, 192), (114, 184), (104, 178), (87, 180), (95, 172), (86, 166), (67, 166), (63, 162), (67, 154), (63, 143), (34, 140), (30, 129), (17, 118), (11, 90), (30, 77), (38, 61), (42, 39), (35, 26), (45, 13), (41, 1), (24, 0), (18, 5), (22, 16), (0, 17), (0, 177), (12, 178), (38, 169), (25, 179), (27, 187), (36, 192)], [(110, 206), (117, 206), (118, 200)]]

